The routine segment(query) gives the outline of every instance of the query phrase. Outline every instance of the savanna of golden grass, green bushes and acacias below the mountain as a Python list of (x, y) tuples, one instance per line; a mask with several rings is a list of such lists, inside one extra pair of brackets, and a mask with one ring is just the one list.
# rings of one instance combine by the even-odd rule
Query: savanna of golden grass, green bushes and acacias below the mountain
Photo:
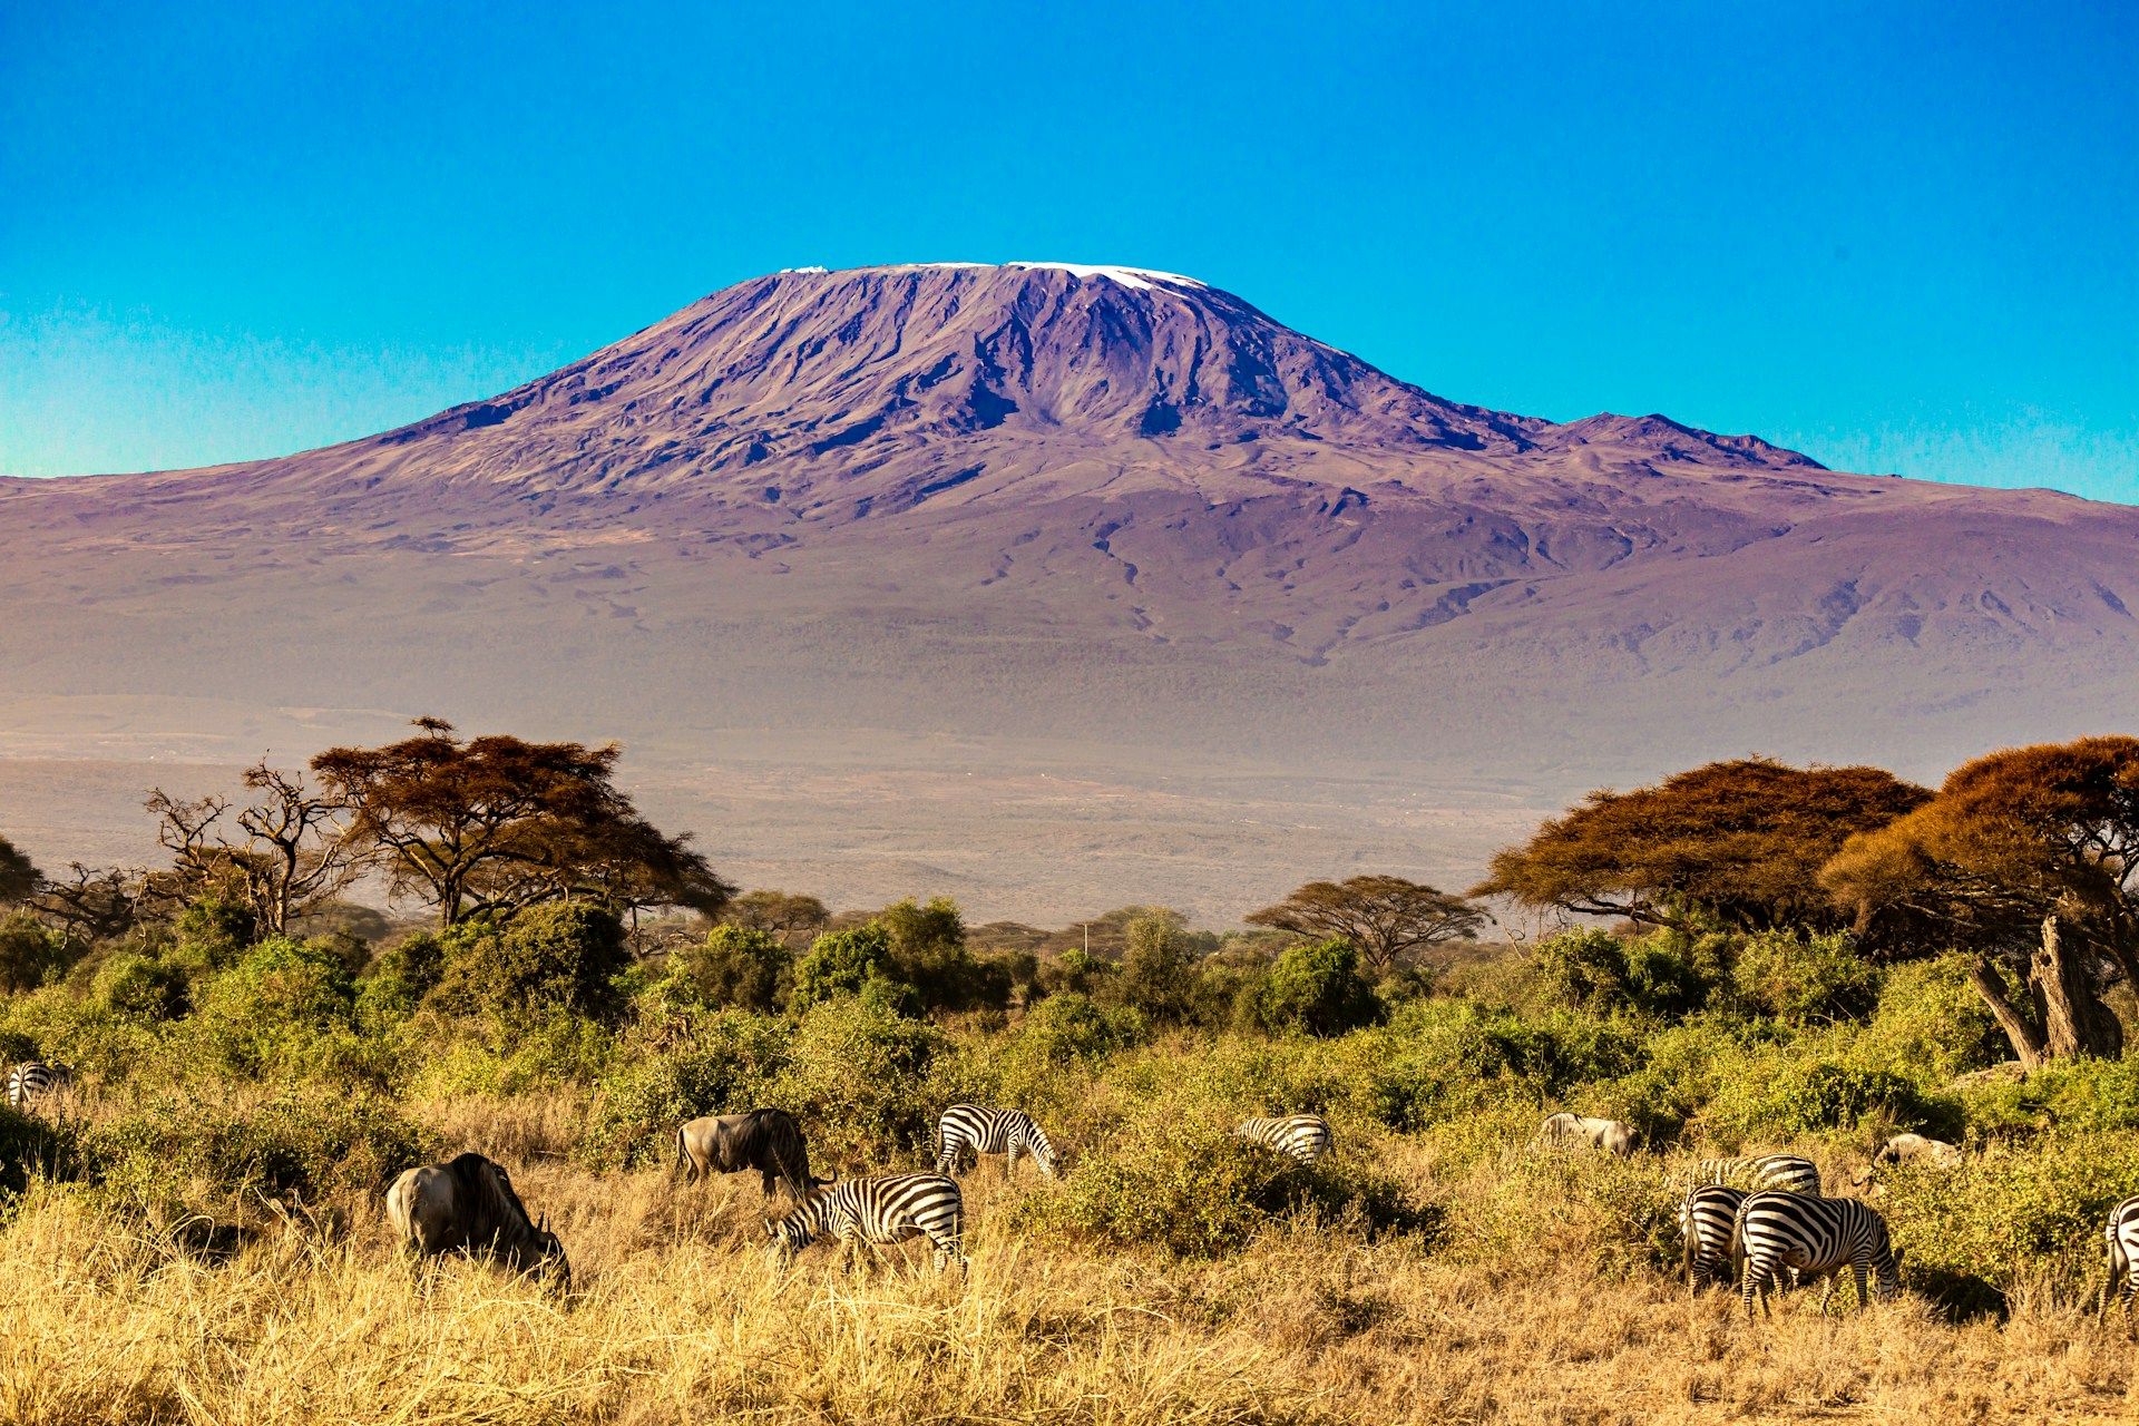
[[(0, 855), (0, 1060), (77, 1075), (0, 1110), (0, 1420), (2139, 1407), (2139, 1349), (2094, 1311), (2105, 1212), (2139, 1193), (2130, 740), (1994, 755), (1938, 793), (1711, 765), (1495, 859), (1493, 894), (1628, 917), (1609, 930), (1482, 945), (1476, 902), (1352, 879), (1232, 932), (1123, 909), (1087, 954), (1084, 928), (969, 928), (948, 900), (738, 896), (612, 795), (614, 750), (441, 727), (314, 763), (357, 791), (284, 859), (173, 800), (169, 870)], [(270, 832), (314, 806), (274, 778)], [(396, 864), (376, 787), (466, 817)], [(359, 870), (432, 915), (338, 900)], [(1022, 1107), (1065, 1159), (965, 1176), (965, 1274), (920, 1251), (843, 1274), (826, 1246), (776, 1268), (755, 1176), (674, 1176), (697, 1114), (785, 1107), (845, 1178), (928, 1163), (954, 1103)], [(1542, 1148), (1555, 1110), (1641, 1148)], [(1232, 1135), (1296, 1112), (1335, 1131), (1313, 1165)], [(1897, 1131), (1957, 1159), (1867, 1178)], [(391, 1242), (385, 1187), (462, 1150), (558, 1231), (569, 1289)], [(1688, 1293), (1694, 1163), (1767, 1150), (1878, 1206), (1899, 1298), (1786, 1293), (1748, 1323)]]

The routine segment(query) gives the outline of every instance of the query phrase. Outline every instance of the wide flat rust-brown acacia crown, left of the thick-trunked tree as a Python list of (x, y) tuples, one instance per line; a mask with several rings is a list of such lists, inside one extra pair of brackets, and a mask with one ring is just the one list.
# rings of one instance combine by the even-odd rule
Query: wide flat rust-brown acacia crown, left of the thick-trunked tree
[(1818, 870), (1861, 832), (1932, 793), (1880, 768), (1705, 763), (1630, 793), (1596, 791), (1493, 857), (1472, 896), (1688, 928), (1694, 913), (1745, 930), (1840, 930)]

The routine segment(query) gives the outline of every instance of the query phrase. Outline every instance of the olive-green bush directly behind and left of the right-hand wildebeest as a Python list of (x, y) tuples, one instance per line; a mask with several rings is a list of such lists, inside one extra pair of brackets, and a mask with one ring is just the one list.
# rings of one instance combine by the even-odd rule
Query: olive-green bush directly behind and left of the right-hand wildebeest
[(747, 1011), (697, 1020), (676, 1050), (627, 1054), (595, 1090), (580, 1161), (597, 1169), (665, 1163), (676, 1129), (702, 1114), (753, 1110), (787, 1058), (787, 1028)]

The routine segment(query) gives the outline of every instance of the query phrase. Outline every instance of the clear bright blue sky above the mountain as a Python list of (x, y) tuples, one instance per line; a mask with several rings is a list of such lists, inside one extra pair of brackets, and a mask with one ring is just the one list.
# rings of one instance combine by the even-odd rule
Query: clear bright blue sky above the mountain
[(0, 4), (0, 472), (325, 445), (952, 259), (2139, 500), (2139, 6)]

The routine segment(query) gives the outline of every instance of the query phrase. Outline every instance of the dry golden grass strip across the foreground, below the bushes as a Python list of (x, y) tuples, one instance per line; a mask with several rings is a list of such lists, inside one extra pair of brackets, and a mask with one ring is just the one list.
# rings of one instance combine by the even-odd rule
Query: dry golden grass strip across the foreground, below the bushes
[[(436, 1105), (441, 1122), (479, 1110)], [(545, 1152), (539, 1101), (486, 1120), (575, 1270), (569, 1300), (475, 1264), (415, 1274), (376, 1206), (347, 1238), (263, 1234), (214, 1266), (68, 1191), (0, 1234), (0, 1420), (86, 1422), (2111, 1422), (2133, 1347), (2071, 1302), (2006, 1323), (1904, 1300), (1769, 1326), (1647, 1272), (1600, 1276), (1596, 1223), (1559, 1261), (1478, 1242), (1499, 1167), (1433, 1182), (1442, 1251), (1288, 1229), (1217, 1264), (1012, 1236), (995, 1163), (969, 1182), (971, 1274), (909, 1251), (783, 1276), (747, 1178), (676, 1187)], [(503, 1152), (503, 1150), (496, 1150)], [(1502, 1195), (1506, 1197), (1506, 1195)]]

